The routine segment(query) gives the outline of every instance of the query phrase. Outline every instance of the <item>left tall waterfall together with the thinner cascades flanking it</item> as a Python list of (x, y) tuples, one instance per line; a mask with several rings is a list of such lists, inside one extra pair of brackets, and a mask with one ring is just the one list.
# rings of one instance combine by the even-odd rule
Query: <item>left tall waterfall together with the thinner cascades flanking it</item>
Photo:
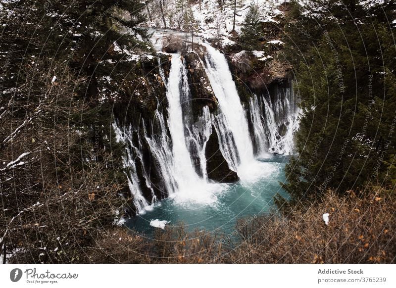
[[(139, 131), (134, 131), (131, 125), (120, 127), (117, 122), (113, 123), (117, 142), (122, 142), (125, 146), (126, 156), (123, 162), (128, 171), (128, 186), (134, 198), (137, 214), (144, 213), (155, 204), (154, 188), (160, 190), (161, 197), (174, 198), (182, 204), (211, 204), (217, 201), (217, 193), (227, 187), (226, 184), (211, 183), (207, 179), (205, 146), (212, 133), (212, 118), (208, 107), (202, 108), (201, 116), (195, 123), (189, 123), (183, 116), (183, 107), (191, 101), (191, 95), (181, 56), (172, 55), (168, 79), (165, 79), (160, 62), (159, 74), (166, 85), (167, 118), (157, 109), (150, 123), (142, 119), (140, 133), (143, 137), (140, 137)], [(149, 131), (155, 133), (149, 135), (147, 125), (151, 126)], [(138, 136), (138, 144), (133, 141), (134, 132)], [(145, 161), (142, 155), (145, 149), (152, 157), (150, 163)], [(193, 150), (194, 154), (190, 150)], [(193, 158), (197, 161), (193, 161)], [(138, 159), (143, 168), (144, 181), (137, 172)], [(155, 165), (161, 178), (160, 187), (155, 187), (150, 181), (148, 171), (151, 170), (151, 165)], [(150, 202), (142, 188), (150, 191)]]

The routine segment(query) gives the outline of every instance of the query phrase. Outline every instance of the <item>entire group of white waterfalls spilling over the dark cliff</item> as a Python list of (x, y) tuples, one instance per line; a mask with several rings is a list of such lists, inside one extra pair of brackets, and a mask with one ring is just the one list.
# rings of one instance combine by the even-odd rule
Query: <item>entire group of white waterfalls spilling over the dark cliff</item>
[(207, 176), (205, 148), (213, 128), (221, 154), (243, 185), (273, 171), (269, 163), (257, 160), (264, 154), (293, 151), (298, 108), (291, 85), (253, 94), (243, 105), (225, 55), (202, 45), (207, 51), (202, 64), (218, 103), (214, 112), (208, 106), (192, 111), (190, 72), (180, 54), (171, 54), (168, 77), (158, 57), (167, 102), (157, 104), (152, 119), (140, 119), (139, 127), (113, 123), (117, 142), (125, 145), (123, 164), (137, 214), (151, 209), (157, 196), (194, 207), (217, 202), (228, 185)]

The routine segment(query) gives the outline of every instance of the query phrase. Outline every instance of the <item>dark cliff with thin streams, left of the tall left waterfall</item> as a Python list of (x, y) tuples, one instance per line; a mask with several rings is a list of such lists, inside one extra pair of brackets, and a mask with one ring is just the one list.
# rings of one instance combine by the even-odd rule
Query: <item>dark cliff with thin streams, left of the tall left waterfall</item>
[[(119, 137), (125, 147), (124, 170), (130, 182), (130, 192), (135, 197), (135, 205), (131, 205), (131, 214), (155, 198), (166, 196), (166, 188), (162, 180), (158, 159), (150, 148), (148, 139), (160, 135), (168, 137), (166, 84), (161, 77), (169, 75), (170, 56), (165, 54), (143, 55), (131, 68), (129, 81), (123, 83), (125, 93), (117, 99), (113, 106), (113, 115)], [(162, 119), (158, 119), (158, 115)], [(163, 125), (158, 123), (161, 120)], [(165, 128), (165, 131), (161, 129)], [(136, 199), (140, 193), (144, 199)], [(134, 207), (136, 206), (136, 207)], [(141, 207), (139, 207), (141, 206)]]

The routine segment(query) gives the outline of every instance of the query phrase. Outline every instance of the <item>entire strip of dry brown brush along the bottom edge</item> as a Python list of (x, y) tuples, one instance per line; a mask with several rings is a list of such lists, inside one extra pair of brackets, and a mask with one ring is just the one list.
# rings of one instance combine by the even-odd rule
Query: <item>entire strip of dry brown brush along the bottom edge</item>
[[(375, 190), (375, 189), (374, 189)], [(183, 225), (148, 240), (118, 228), (98, 242), (93, 262), (123, 263), (394, 263), (395, 197), (384, 190), (340, 197), (328, 192), (290, 215), (240, 219), (237, 239)], [(330, 213), (329, 225), (322, 215)], [(119, 231), (118, 231), (119, 230)], [(232, 239), (231, 244), (229, 240)]]

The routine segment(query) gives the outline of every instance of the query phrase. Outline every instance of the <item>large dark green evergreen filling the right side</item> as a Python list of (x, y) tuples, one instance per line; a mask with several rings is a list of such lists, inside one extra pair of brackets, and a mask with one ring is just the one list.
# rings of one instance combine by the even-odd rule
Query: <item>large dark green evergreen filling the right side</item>
[[(378, 5), (344, 2), (312, 1), (306, 8), (295, 3), (286, 28), (286, 55), (302, 109), (298, 156), (286, 165), (283, 184), (292, 204), (327, 189), (344, 193), (396, 178), (393, 28)], [(389, 1), (383, 11), (393, 7)], [(278, 204), (285, 199), (278, 196)]]

